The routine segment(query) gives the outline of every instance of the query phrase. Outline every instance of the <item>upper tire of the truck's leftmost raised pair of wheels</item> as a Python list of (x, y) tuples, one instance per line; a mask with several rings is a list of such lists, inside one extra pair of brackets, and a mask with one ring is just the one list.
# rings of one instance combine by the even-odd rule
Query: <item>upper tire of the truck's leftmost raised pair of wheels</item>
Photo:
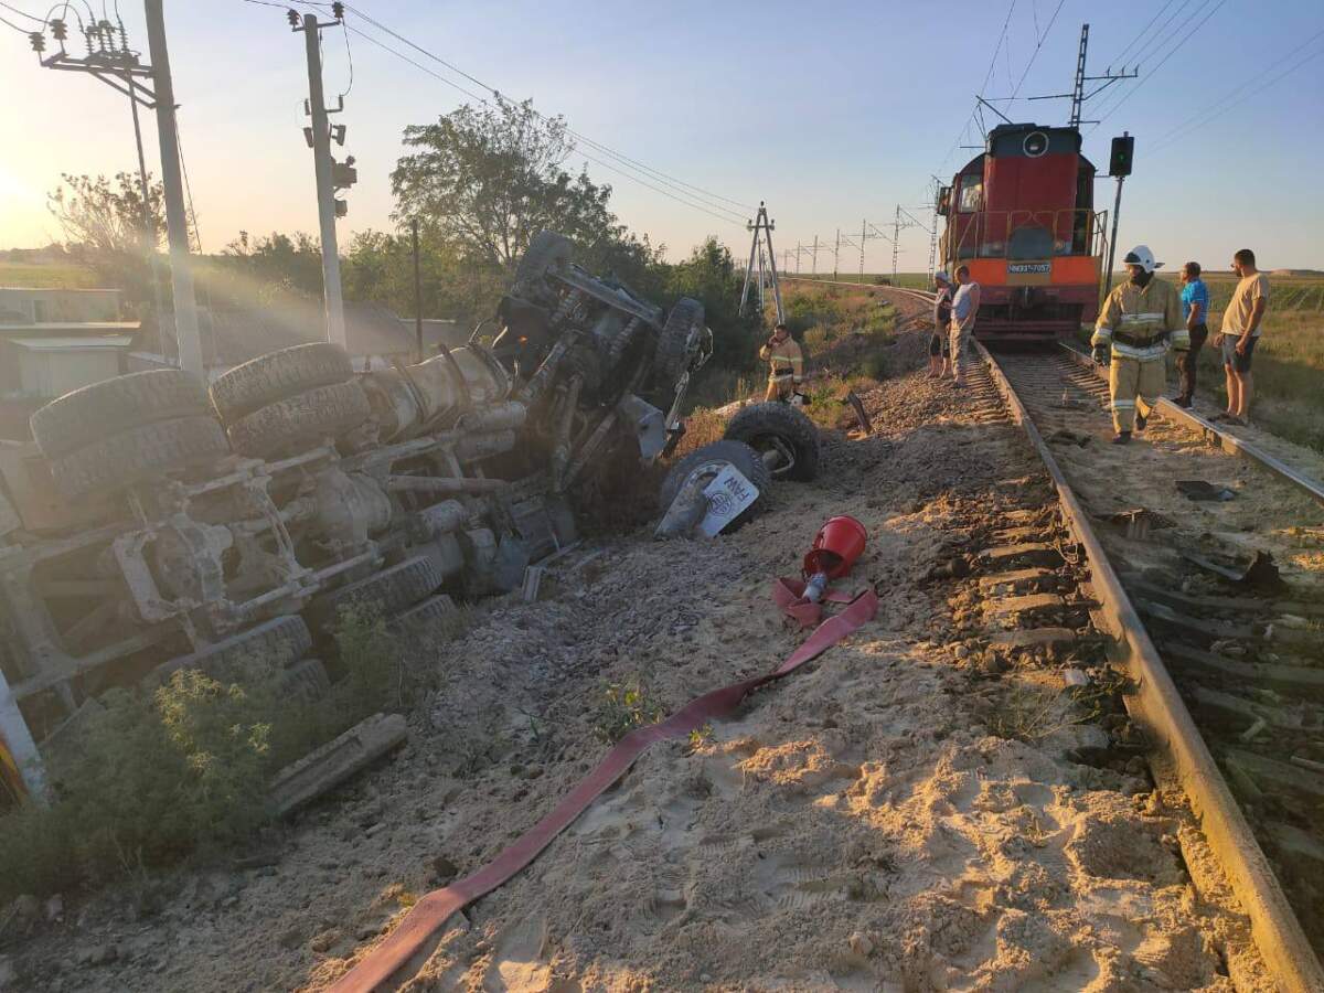
[(60, 458), (98, 441), (156, 421), (209, 414), (203, 380), (183, 369), (130, 372), (65, 393), (28, 420), (46, 458)]

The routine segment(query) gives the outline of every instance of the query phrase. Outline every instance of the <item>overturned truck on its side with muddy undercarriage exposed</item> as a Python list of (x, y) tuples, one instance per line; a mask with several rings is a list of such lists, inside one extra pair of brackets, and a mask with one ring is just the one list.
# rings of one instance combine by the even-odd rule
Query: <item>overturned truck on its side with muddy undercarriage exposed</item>
[[(666, 312), (547, 232), (498, 323), (414, 365), (355, 373), (312, 343), (211, 389), (158, 369), (37, 410), (34, 444), (0, 448), (0, 773), (41, 797), (40, 743), (107, 687), (260, 658), (316, 695), (343, 609), (409, 625), (514, 589), (576, 540), (584, 478), (675, 444), (711, 354), (698, 301)], [(741, 445), (784, 465), (763, 453)], [(673, 498), (714, 462), (677, 471)]]

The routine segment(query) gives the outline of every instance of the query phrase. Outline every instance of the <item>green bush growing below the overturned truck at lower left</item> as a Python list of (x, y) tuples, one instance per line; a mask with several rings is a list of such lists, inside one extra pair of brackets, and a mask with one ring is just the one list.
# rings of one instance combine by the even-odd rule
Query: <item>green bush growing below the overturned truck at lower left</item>
[(319, 700), (289, 700), (260, 658), (232, 685), (180, 670), (150, 695), (103, 694), (77, 739), (48, 757), (56, 802), (0, 817), (0, 900), (103, 883), (252, 837), (270, 821), (274, 772), (402, 703), (414, 683), (380, 618), (346, 613), (335, 638), (339, 678)]

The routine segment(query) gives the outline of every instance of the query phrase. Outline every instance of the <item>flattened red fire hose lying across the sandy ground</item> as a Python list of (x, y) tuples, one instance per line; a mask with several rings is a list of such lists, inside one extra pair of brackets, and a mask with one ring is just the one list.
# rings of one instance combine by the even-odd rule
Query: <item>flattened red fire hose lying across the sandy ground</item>
[[(805, 584), (801, 580), (780, 579), (773, 587), (773, 600), (776, 600), (777, 606), (785, 614), (800, 621), (802, 626), (809, 626), (809, 624), (813, 624), (813, 620), (810, 620), (813, 612), (806, 613), (802, 609), (805, 605), (804, 592)], [(588, 809), (589, 804), (602, 790), (616, 782), (649, 745), (654, 741), (682, 737), (715, 718), (727, 716), (753, 690), (781, 679), (805, 662), (817, 658), (857, 628), (873, 620), (878, 612), (878, 596), (873, 589), (866, 589), (855, 597), (829, 592), (824, 598), (833, 602), (843, 602), (847, 606), (839, 614), (829, 617), (820, 624), (813, 634), (777, 669), (767, 675), (745, 679), (707, 692), (703, 696), (690, 700), (690, 703), (666, 720), (637, 728), (628, 733), (606, 753), (606, 757), (602, 759), (598, 767), (587, 779), (581, 780), (571, 790), (569, 796), (556, 805), (555, 810), (534, 825), (510, 847), (496, 855), (496, 858), (473, 875), (465, 876), (442, 890), (433, 890), (418, 900), (385, 941), (373, 948), (331, 986), (332, 993), (368, 993), (369, 990), (376, 990), (399, 969), (406, 965), (453, 914), (463, 910), (498, 886), (502, 886), (532, 862), (543, 849), (552, 843), (552, 839), (557, 834), (565, 830), (576, 817)], [(810, 604), (810, 606), (817, 608), (818, 605)], [(817, 618), (814, 617), (814, 620)]]

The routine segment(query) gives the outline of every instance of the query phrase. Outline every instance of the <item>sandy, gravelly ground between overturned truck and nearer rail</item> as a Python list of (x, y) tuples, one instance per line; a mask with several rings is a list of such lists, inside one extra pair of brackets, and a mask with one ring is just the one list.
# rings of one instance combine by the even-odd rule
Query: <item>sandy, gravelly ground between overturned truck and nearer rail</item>
[[(919, 364), (919, 335), (896, 348), (894, 368)], [(830, 438), (820, 479), (779, 486), (737, 534), (610, 542), (549, 600), (483, 608), (405, 749), (289, 825), (269, 865), (69, 907), (8, 949), (15, 988), (324, 986), (605, 752), (604, 683), (638, 678), (670, 712), (793, 650), (769, 580), (853, 514), (870, 547), (843, 585), (878, 589), (876, 620), (737, 719), (654, 747), (405, 988), (1268, 989), (1235, 903), (1190, 883), (1201, 839), (1180, 797), (1113, 749), (1124, 718), (1104, 718), (1111, 736), (1071, 723), (1059, 670), (1100, 670), (989, 665), (978, 576), (951, 565), (1014, 523), (1054, 535), (1017, 430), (918, 373), (865, 402), (878, 433)], [(1027, 698), (1061, 726), (993, 733)]]

